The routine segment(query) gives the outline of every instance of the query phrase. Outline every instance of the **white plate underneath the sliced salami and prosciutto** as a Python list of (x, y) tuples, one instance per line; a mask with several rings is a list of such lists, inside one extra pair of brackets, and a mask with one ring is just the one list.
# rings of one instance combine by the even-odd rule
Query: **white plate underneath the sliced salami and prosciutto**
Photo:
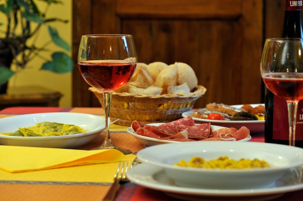
[[(159, 126), (161, 124), (163, 124), (163, 123), (149, 123), (148, 125)], [(224, 127), (222, 127), (222, 126), (211, 126), (212, 131), (218, 130), (220, 128), (224, 128)], [(135, 139), (138, 140), (138, 142), (142, 143), (145, 147), (149, 147), (149, 146), (153, 146), (153, 145), (161, 145), (161, 144), (166, 144), (166, 143), (180, 143), (180, 142), (172, 141), (172, 140), (161, 140), (161, 139), (156, 139), (156, 138), (140, 136), (137, 133), (135, 133), (135, 131), (132, 129), (132, 127), (127, 128), (126, 131), (129, 134), (131, 134), (132, 136), (134, 136)], [(249, 138), (238, 140), (237, 142), (250, 141), (250, 140), (251, 140), (251, 136), (249, 136)]]

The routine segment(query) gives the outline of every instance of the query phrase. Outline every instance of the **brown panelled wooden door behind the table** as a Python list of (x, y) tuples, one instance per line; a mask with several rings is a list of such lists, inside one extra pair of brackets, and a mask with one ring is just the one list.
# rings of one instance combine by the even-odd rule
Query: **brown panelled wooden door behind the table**
[[(207, 88), (195, 107), (210, 102), (263, 102), (259, 70), (266, 32), (263, 8), (271, 16), (283, 16), (281, 2), (284, 0), (74, 0), (73, 106), (100, 106), (76, 66), (83, 34), (132, 34), (138, 62), (187, 63), (198, 84)], [(277, 30), (279, 33), (281, 26)]]

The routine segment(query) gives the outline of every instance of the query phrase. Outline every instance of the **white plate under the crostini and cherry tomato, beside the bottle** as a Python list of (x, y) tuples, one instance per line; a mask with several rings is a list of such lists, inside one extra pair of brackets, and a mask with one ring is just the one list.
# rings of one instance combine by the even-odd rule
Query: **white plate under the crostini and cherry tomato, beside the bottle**
[[(264, 104), (250, 104), (251, 107), (257, 107), (258, 105), (263, 105)], [(237, 107), (240, 108), (243, 105), (231, 105), (232, 107)], [(204, 108), (205, 109), (205, 108)], [(183, 117), (187, 117), (187, 116), (192, 116), (192, 113), (194, 112), (194, 110), (190, 110), (187, 112), (182, 113)], [(195, 118), (193, 117), (195, 123), (207, 123), (210, 122), (211, 125), (215, 125), (215, 126), (223, 126), (223, 127), (233, 127), (235, 129), (239, 129), (242, 126), (245, 126), (246, 128), (248, 128), (250, 130), (251, 133), (260, 133), (260, 132), (264, 132), (264, 123), (265, 120), (256, 120), (256, 121), (230, 121), (230, 120), (209, 120), (209, 119), (200, 119), (200, 118)]]

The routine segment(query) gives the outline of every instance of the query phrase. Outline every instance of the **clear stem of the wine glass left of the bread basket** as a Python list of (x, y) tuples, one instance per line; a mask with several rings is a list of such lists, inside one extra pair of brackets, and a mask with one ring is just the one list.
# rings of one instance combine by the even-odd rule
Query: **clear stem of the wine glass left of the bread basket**
[(113, 147), (114, 144), (111, 140), (111, 131), (110, 131), (110, 113), (111, 113), (111, 101), (112, 101), (112, 92), (103, 92), (104, 95), (104, 112), (105, 112), (105, 139), (102, 144), (102, 147)]

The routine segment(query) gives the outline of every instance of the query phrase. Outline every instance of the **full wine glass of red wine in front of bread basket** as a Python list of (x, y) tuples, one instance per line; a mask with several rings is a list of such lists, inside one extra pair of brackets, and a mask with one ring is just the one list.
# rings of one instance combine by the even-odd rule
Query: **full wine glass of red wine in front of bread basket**
[(111, 140), (110, 107), (112, 92), (124, 86), (137, 65), (132, 35), (83, 35), (78, 51), (78, 68), (84, 80), (104, 95), (105, 140), (99, 149), (118, 149), (125, 155), (131, 151), (117, 147)]

